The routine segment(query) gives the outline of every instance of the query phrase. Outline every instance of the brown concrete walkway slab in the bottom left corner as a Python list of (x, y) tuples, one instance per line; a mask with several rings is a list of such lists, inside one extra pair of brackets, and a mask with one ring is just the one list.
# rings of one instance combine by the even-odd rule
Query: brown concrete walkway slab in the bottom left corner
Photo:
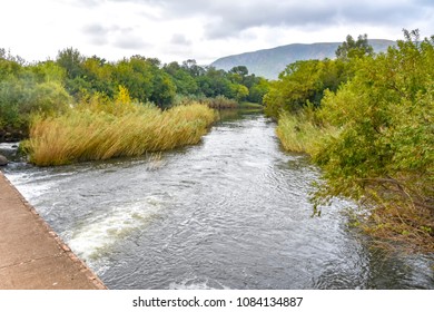
[(0, 172), (0, 290), (103, 290)]

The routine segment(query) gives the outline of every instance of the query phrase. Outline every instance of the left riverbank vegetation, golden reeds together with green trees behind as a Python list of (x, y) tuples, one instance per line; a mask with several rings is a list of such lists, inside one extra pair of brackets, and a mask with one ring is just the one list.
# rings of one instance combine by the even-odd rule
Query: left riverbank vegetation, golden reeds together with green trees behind
[(29, 138), (22, 150), (39, 166), (171, 149), (198, 143), (213, 109), (262, 106), (267, 86), (244, 66), (108, 62), (73, 48), (27, 64), (0, 49), (0, 142)]

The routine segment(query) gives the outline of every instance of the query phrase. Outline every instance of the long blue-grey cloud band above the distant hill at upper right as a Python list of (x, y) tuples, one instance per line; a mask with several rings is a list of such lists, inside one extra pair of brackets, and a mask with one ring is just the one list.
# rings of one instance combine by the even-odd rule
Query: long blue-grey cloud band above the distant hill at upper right
[[(306, 2), (306, 1), (305, 1)], [(425, 10), (407, 4), (374, 6), (367, 2), (347, 4), (347, 2), (298, 4), (251, 6), (249, 8), (219, 8), (220, 20), (211, 22), (206, 29), (210, 39), (234, 37), (253, 27), (332, 27), (335, 25), (364, 23), (372, 26), (393, 25), (402, 28), (405, 22), (425, 16)], [(312, 1), (310, 1), (312, 2)], [(335, 1), (336, 2), (336, 1)], [(267, 3), (267, 2), (264, 2)]]

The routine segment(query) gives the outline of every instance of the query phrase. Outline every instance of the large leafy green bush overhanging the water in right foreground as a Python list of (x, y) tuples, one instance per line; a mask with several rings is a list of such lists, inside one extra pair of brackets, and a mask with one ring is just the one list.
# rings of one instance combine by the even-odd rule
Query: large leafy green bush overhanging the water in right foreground
[(353, 198), (368, 208), (361, 220), (367, 232), (432, 252), (434, 37), (416, 35), (359, 60), (355, 78), (325, 96), (319, 115), (341, 131), (323, 139), (313, 159), (324, 181), (316, 204)]

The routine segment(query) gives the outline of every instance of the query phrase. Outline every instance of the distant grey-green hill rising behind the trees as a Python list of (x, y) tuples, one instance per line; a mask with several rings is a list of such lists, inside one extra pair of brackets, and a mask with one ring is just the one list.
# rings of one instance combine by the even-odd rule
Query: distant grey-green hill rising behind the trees
[[(368, 40), (375, 52), (383, 52), (395, 41), (383, 39)], [(277, 79), (288, 64), (297, 60), (335, 58), (335, 51), (342, 42), (294, 43), (273, 49), (258, 50), (220, 58), (211, 64), (218, 69), (229, 70), (235, 66), (246, 66), (250, 74), (268, 79)]]

